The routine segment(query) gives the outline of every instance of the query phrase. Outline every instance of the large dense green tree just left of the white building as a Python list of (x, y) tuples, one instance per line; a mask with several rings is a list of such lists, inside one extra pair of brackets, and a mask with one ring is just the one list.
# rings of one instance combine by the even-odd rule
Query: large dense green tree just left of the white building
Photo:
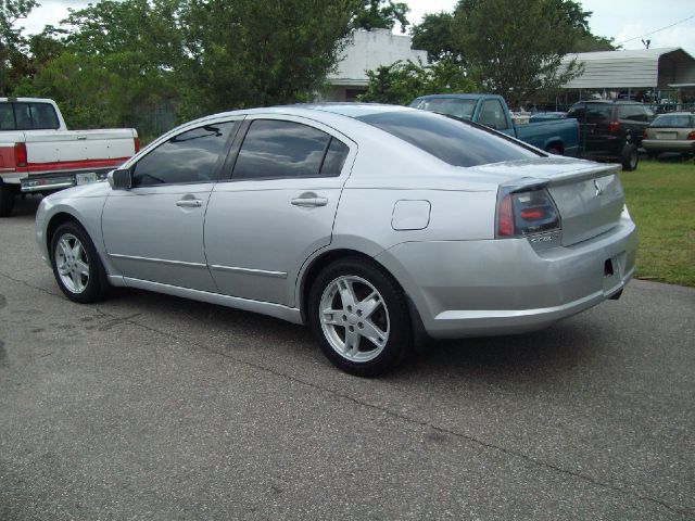
[(211, 0), (181, 16), (187, 115), (308, 101), (340, 59), (359, 2)]

